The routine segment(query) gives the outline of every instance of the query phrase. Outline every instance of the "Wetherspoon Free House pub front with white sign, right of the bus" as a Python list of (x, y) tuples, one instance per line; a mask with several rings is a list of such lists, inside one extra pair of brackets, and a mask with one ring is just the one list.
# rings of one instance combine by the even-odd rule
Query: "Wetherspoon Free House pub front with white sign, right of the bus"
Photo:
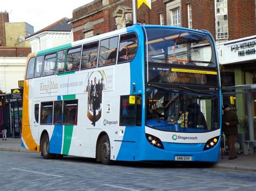
[(237, 112), (239, 145), (245, 154), (252, 154), (256, 145), (256, 36), (217, 43), (217, 51), (223, 103)]

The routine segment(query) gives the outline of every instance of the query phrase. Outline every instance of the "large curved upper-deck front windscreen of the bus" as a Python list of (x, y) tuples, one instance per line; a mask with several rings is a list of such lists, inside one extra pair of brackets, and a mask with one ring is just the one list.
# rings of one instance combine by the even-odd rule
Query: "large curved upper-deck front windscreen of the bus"
[(147, 28), (150, 63), (216, 67), (213, 44), (207, 34)]

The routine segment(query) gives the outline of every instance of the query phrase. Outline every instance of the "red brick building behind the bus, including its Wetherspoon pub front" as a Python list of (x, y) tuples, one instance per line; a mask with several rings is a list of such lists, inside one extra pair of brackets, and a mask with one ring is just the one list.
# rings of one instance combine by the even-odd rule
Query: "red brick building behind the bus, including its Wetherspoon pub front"
[[(208, 30), (217, 45), (222, 65), (222, 86), (256, 83), (256, 0), (152, 0), (152, 9), (145, 4), (137, 10), (137, 20), (143, 24), (164, 24)], [(70, 20), (74, 41), (113, 31), (132, 23), (132, 1), (95, 0), (73, 10)], [(256, 117), (256, 102), (247, 111), (245, 95), (224, 94), (224, 103), (235, 96), (238, 117), (252, 112)], [(256, 100), (256, 93), (253, 94)], [(256, 124), (256, 121), (255, 123)], [(239, 128), (245, 139), (246, 128)], [(256, 137), (256, 125), (254, 125)]]

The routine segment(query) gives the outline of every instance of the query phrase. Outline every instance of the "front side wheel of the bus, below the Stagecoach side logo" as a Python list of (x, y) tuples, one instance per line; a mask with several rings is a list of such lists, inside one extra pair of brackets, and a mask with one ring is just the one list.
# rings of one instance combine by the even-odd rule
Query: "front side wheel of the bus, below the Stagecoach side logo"
[(110, 140), (107, 135), (102, 137), (100, 142), (100, 160), (103, 165), (111, 165), (110, 160)]

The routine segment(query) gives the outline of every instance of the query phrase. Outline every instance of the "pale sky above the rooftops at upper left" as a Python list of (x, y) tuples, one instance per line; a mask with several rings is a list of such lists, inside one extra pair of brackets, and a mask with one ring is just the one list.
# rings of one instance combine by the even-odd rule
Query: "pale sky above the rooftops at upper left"
[(9, 12), (9, 22), (26, 22), (34, 27), (34, 32), (55, 23), (63, 17), (72, 18), (72, 11), (93, 0), (5, 0), (1, 1), (0, 12)]

